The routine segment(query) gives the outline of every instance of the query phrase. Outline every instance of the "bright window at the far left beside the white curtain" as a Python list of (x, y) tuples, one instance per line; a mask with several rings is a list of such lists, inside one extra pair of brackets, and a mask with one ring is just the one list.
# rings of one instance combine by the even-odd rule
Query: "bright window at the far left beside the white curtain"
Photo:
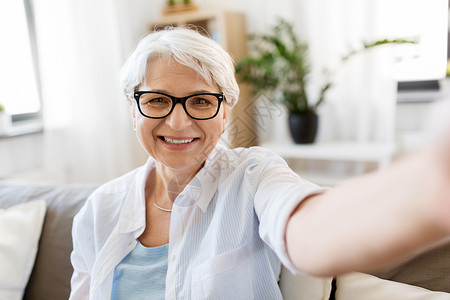
[(0, 103), (12, 122), (41, 112), (34, 20), (30, 0), (0, 1)]

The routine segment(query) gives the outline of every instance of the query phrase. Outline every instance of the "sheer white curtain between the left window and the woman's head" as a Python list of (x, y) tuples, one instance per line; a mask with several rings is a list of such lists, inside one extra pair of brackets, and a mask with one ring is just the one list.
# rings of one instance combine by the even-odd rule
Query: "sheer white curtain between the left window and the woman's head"
[(39, 0), (34, 11), (45, 125), (41, 179), (104, 182), (142, 164), (146, 155), (119, 87), (127, 53), (115, 1)]

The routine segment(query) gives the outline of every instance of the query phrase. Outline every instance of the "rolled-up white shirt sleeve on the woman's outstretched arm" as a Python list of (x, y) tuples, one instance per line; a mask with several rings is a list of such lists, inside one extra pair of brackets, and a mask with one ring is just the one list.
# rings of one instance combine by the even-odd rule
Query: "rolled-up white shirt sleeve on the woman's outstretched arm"
[(254, 202), (260, 237), (292, 273), (303, 273), (287, 253), (287, 222), (301, 201), (322, 193), (325, 188), (302, 179), (275, 153), (268, 152), (259, 165)]

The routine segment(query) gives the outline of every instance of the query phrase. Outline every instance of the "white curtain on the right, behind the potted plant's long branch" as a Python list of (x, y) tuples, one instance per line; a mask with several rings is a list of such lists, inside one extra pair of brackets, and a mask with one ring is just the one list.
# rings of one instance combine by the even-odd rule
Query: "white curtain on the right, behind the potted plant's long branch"
[(386, 24), (389, 1), (302, 1), (300, 23), (313, 68), (311, 94), (322, 70), (331, 70), (334, 87), (320, 109), (320, 140), (392, 142), (396, 86), (392, 49), (378, 48), (341, 63), (341, 57), (366, 41), (396, 38)]

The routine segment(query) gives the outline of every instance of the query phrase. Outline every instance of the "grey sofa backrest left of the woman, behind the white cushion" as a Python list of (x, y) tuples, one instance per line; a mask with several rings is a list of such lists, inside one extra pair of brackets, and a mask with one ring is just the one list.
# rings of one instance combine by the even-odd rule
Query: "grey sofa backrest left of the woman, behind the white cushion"
[(24, 299), (67, 299), (70, 294), (72, 265), (72, 219), (93, 185), (54, 185), (0, 180), (0, 208), (37, 199), (45, 200), (44, 220), (36, 262)]

